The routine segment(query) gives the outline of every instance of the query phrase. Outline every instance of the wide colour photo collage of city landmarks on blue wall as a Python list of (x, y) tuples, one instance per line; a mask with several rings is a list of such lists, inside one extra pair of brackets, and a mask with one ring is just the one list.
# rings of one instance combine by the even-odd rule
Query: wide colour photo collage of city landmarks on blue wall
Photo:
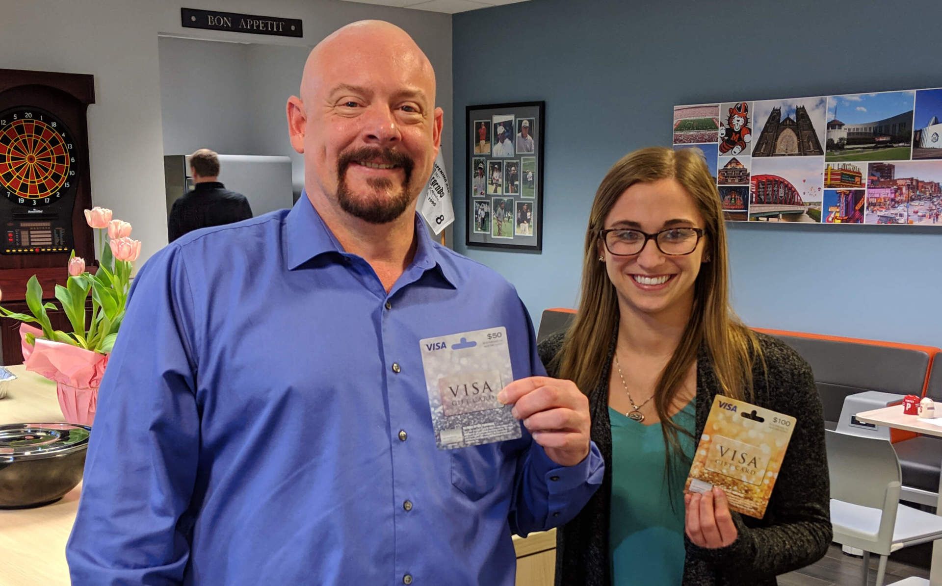
[(726, 220), (942, 228), (942, 89), (674, 106)]

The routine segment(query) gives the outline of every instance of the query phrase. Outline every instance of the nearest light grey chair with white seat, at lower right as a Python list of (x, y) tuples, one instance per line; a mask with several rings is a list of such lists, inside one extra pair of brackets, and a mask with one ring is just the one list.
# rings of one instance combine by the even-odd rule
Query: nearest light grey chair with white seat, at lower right
[(834, 541), (864, 551), (864, 586), (870, 553), (879, 555), (883, 586), (889, 554), (942, 539), (942, 517), (900, 504), (900, 462), (888, 441), (830, 430), (825, 437)]

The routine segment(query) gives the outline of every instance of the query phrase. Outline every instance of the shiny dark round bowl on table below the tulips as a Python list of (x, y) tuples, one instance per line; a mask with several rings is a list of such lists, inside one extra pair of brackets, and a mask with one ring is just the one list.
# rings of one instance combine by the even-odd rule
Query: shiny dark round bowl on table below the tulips
[(75, 488), (90, 431), (72, 423), (0, 425), (0, 509), (39, 507)]

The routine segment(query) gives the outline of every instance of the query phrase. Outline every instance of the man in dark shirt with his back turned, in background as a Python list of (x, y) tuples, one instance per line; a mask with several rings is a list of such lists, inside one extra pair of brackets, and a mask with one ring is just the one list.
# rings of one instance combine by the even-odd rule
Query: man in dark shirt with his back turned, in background
[(230, 224), (252, 218), (252, 207), (245, 196), (226, 189), (219, 176), (219, 157), (209, 149), (189, 155), (193, 190), (173, 202), (167, 218), (168, 241), (207, 226)]

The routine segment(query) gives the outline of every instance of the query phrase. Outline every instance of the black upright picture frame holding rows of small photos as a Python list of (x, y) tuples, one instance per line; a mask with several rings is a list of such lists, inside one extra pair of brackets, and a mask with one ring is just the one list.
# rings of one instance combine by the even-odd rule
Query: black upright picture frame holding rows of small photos
[(465, 245), (543, 251), (544, 112), (542, 101), (465, 107)]

